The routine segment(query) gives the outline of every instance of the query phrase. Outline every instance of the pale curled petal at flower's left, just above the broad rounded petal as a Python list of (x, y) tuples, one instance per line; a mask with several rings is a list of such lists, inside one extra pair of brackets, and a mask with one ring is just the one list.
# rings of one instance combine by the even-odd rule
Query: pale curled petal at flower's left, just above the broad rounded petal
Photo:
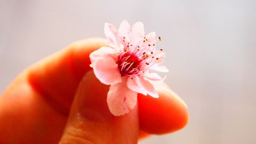
[(116, 49), (110, 48), (110, 47), (101, 47), (98, 50), (90, 53), (90, 60), (91, 63), (90, 66), (93, 67), (95, 62), (99, 59), (105, 59), (105, 58), (113, 58), (114, 60), (117, 59), (117, 52)]

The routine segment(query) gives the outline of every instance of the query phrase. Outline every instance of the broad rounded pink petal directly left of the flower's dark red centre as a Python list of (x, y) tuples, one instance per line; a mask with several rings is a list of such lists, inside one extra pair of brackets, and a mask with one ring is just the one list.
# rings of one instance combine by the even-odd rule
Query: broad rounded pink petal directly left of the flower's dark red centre
[(93, 67), (96, 78), (103, 84), (116, 84), (122, 82), (121, 74), (113, 58), (97, 60)]

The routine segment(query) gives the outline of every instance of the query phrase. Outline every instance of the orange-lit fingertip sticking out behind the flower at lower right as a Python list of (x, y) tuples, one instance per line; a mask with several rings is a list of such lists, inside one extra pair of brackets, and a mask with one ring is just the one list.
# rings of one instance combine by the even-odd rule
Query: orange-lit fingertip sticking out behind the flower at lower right
[(182, 129), (189, 121), (186, 104), (166, 89), (159, 98), (138, 95), (140, 129), (150, 134), (164, 134)]

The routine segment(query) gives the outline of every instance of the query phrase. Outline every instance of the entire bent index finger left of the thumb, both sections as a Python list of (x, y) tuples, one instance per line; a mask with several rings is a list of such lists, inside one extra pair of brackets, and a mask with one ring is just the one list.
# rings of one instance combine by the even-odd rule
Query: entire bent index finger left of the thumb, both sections
[(77, 41), (18, 75), (0, 96), (0, 143), (58, 142), (89, 54), (103, 45), (100, 38)]

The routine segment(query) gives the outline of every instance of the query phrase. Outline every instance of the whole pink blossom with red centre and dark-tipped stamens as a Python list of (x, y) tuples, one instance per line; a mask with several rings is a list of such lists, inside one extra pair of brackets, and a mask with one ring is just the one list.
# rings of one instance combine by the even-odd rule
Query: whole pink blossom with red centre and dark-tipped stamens
[(105, 23), (105, 35), (112, 47), (101, 47), (90, 54), (94, 74), (103, 84), (111, 85), (107, 103), (115, 116), (124, 115), (137, 103), (137, 93), (158, 98), (151, 81), (162, 78), (152, 70), (168, 72), (160, 65), (165, 57), (162, 49), (157, 51), (155, 32), (144, 36), (143, 23), (132, 28), (123, 20), (118, 31), (112, 24)]

